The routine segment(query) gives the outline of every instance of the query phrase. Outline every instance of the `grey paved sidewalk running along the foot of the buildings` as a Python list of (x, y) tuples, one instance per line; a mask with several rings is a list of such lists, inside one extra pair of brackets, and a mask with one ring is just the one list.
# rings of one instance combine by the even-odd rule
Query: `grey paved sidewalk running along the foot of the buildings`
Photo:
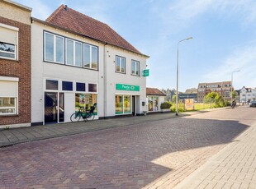
[[(180, 113), (179, 117), (191, 114), (206, 113), (225, 108), (212, 108), (191, 113)], [(45, 126), (23, 127), (0, 130), (0, 147), (15, 145), (29, 141), (39, 141), (60, 136), (71, 136), (89, 131), (98, 131), (113, 127), (123, 127), (143, 122), (154, 122), (162, 119), (176, 118), (175, 113), (151, 113), (147, 116), (128, 118), (112, 118), (94, 120), (88, 122), (69, 122), (61, 124), (49, 124)]]

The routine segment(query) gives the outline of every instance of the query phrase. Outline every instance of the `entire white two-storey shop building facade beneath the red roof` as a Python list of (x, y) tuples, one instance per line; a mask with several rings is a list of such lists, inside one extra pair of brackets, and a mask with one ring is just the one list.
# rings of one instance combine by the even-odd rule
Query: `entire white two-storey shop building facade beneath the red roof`
[[(93, 70), (68, 66), (55, 61), (45, 61), (45, 32), (58, 35), (60, 38), (64, 38), (65, 42), (67, 39), (74, 39), (81, 44), (90, 44), (97, 47), (97, 69)], [(65, 43), (65, 45), (67, 44)], [(64, 48), (66, 49), (66, 46)], [(66, 53), (64, 54), (66, 55)], [(126, 59), (125, 73), (116, 72), (116, 56)], [(47, 95), (54, 95), (57, 99), (56, 104), (53, 104), (53, 106), (56, 106), (56, 110), (52, 110), (53, 112), (56, 111), (57, 118), (55, 118), (55, 122), (70, 122), (71, 114), (76, 111), (77, 105), (75, 104), (78, 104), (78, 94), (80, 96), (93, 95), (94, 99), (92, 99), (97, 103), (96, 118), (108, 118), (123, 114), (142, 114), (146, 110), (145, 105), (143, 106), (142, 104), (142, 102), (146, 101), (146, 79), (142, 76), (142, 71), (146, 68), (146, 58), (146, 56), (137, 53), (130, 53), (121, 48), (55, 29), (43, 21), (33, 21), (31, 25), (32, 124), (45, 124), (47, 111), (45, 107), (49, 97)], [(140, 76), (131, 75), (132, 60), (140, 62)], [(66, 61), (67, 57), (65, 57), (64, 62)], [(47, 89), (46, 82), (49, 83), (50, 81), (58, 83), (57, 90)], [(62, 85), (64, 85), (65, 81), (72, 82), (72, 90), (64, 90)], [(85, 91), (78, 92), (77, 83), (85, 84)], [(97, 90), (88, 91), (89, 85), (96, 85)], [(120, 89), (117, 85), (123, 85), (125, 88)], [(127, 89), (126, 86), (130, 87), (130, 89)], [(132, 90), (134, 88), (136, 90)], [(120, 98), (123, 98), (121, 99), (123, 104), (126, 103), (126, 111), (123, 110), (122, 113), (116, 113), (116, 99), (120, 100)], [(130, 112), (127, 106), (130, 106)], [(124, 105), (121, 108), (124, 109)]]

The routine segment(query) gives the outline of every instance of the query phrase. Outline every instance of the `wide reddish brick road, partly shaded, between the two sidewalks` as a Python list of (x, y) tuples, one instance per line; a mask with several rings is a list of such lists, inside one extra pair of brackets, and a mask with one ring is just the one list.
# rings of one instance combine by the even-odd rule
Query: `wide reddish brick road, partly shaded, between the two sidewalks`
[(255, 115), (222, 109), (2, 148), (0, 188), (172, 188), (237, 143)]

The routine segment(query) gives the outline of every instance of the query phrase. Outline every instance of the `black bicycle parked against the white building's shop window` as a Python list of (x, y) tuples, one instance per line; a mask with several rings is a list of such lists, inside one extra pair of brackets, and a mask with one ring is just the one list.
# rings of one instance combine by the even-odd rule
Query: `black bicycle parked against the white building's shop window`
[(94, 110), (96, 108), (97, 104), (93, 104), (93, 106), (91, 106), (90, 109), (86, 109), (85, 111), (83, 111), (83, 107), (79, 107), (78, 112), (73, 113), (70, 116), (70, 121), (71, 122), (79, 122), (79, 120), (81, 118), (83, 118), (84, 122), (88, 121), (88, 118), (91, 118), (92, 120), (95, 118), (95, 113)]

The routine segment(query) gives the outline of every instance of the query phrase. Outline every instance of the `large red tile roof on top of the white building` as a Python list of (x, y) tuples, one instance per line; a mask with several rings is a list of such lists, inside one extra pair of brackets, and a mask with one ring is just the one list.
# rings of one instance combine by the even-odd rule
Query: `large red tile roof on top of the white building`
[(85, 35), (86, 37), (97, 39), (104, 43), (112, 44), (143, 55), (107, 24), (83, 15), (64, 5), (57, 8), (45, 21), (52, 25), (57, 25), (73, 32), (77, 32), (78, 34)]

